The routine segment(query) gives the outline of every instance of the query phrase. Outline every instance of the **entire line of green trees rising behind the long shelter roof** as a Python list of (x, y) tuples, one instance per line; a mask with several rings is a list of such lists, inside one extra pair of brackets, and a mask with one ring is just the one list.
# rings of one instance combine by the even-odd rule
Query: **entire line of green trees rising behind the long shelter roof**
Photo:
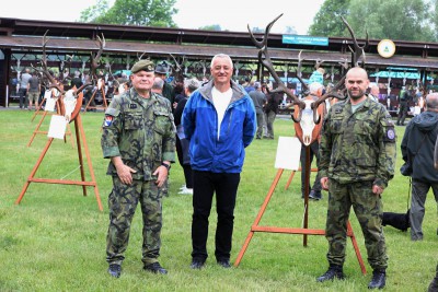
[[(81, 12), (80, 22), (116, 25), (176, 27), (173, 15), (176, 0), (97, 0)], [(356, 36), (396, 40), (438, 42), (438, 0), (325, 0), (313, 17), (309, 35), (348, 36), (344, 16)], [(199, 30), (221, 31), (219, 24)], [(263, 28), (264, 30), (264, 28)], [(254, 27), (255, 32), (263, 31)], [(285, 34), (296, 33), (292, 26)]]

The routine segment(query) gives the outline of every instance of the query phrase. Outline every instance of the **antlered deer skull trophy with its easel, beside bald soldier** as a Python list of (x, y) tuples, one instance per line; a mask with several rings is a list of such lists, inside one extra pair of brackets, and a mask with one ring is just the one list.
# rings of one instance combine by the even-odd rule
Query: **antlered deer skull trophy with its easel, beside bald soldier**
[[(345, 74), (341, 78), (341, 80), (337, 82), (335, 86), (333, 86), (328, 92), (326, 92), (322, 96), (310, 96), (313, 93), (309, 94), (309, 89), (308, 85), (303, 82), (301, 79), (301, 63), (302, 63), (302, 58), (301, 58), (301, 51), (298, 55), (298, 67), (297, 67), (297, 78), (300, 80), (303, 86), (303, 92), (307, 94), (304, 98), (300, 100), (281, 81), (281, 79), (278, 77), (276, 70), (274, 69), (273, 61), (270, 59), (270, 56), (268, 54), (268, 46), (267, 46), (267, 39), (269, 35), (269, 31), (274, 23), (281, 16), (277, 16), (274, 21), (272, 21), (267, 26), (266, 31), (264, 34), (264, 37), (262, 40), (255, 39), (253, 33), (251, 32), (250, 25), (247, 26), (247, 30), (251, 35), (251, 39), (253, 40), (254, 45), (258, 48), (258, 60), (269, 71), (270, 75), (274, 78), (274, 80), (277, 82), (278, 87), (270, 93), (276, 93), (276, 92), (283, 92), (286, 93), (295, 104), (295, 113), (292, 116), (292, 119), (295, 121), (295, 129), (296, 129), (296, 135), (298, 139), (302, 142), (302, 144), (306, 147), (306, 156), (307, 156), (307, 163), (306, 163), (306, 196), (304, 196), (304, 220), (303, 220), (303, 227), (298, 227), (298, 229), (290, 229), (290, 227), (277, 227), (277, 226), (260, 226), (258, 223), (262, 220), (263, 213), (270, 200), (270, 197), (273, 196), (275, 188), (281, 177), (283, 171), (281, 168), (278, 170), (277, 175), (269, 188), (269, 191), (265, 198), (265, 201), (263, 202), (263, 206), (261, 207), (258, 214), (254, 221), (254, 223), (251, 226), (251, 231), (246, 237), (245, 243), (243, 244), (243, 247), (241, 252), (238, 255), (238, 258), (234, 262), (234, 266), (239, 266), (240, 260), (242, 259), (247, 245), (251, 242), (251, 238), (254, 234), (254, 232), (270, 232), (270, 233), (288, 233), (288, 234), (303, 234), (303, 245), (307, 246), (307, 235), (324, 235), (325, 231), (324, 230), (313, 230), (313, 229), (308, 229), (308, 200), (309, 200), (309, 177), (310, 177), (310, 144), (318, 139), (318, 136), (320, 135), (321, 131), (321, 121), (323, 119), (324, 115), (324, 105), (325, 105), (325, 100), (328, 97), (336, 97), (336, 98), (345, 98), (343, 95), (337, 94), (337, 91), (344, 85), (345, 83)], [(351, 50), (351, 66), (357, 66), (359, 61), (359, 57), (364, 55), (365, 52), (365, 45), (364, 47), (359, 47), (356, 40), (356, 37), (354, 36), (353, 30), (349, 27), (348, 23), (343, 19), (343, 22), (347, 25), (348, 31), (350, 32), (354, 40), (354, 49), (350, 47)], [(368, 40), (367, 40), (368, 44)], [(362, 58), (364, 59), (364, 58)], [(318, 60), (316, 66), (320, 66), (322, 61)], [(344, 62), (344, 69), (347, 69), (348, 67)], [(353, 246), (356, 252), (356, 256), (358, 258), (360, 268), (362, 273), (366, 273), (366, 268), (364, 265), (364, 260), (360, 256), (360, 252), (356, 242), (356, 237), (353, 233), (353, 229), (350, 223), (347, 223), (347, 235), (351, 238)]]

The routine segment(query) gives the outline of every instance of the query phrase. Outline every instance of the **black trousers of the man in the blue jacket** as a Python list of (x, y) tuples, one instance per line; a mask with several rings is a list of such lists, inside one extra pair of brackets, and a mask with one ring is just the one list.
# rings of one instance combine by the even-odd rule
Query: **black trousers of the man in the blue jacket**
[(216, 191), (218, 223), (215, 236), (217, 260), (230, 259), (234, 225), (234, 207), (240, 173), (193, 172), (192, 257), (205, 260), (207, 254), (208, 217)]

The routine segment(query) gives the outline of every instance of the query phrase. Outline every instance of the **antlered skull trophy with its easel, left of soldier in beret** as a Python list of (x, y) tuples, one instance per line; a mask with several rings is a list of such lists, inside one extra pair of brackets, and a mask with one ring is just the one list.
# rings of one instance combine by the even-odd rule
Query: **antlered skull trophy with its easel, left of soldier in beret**
[[(99, 190), (97, 190), (97, 184), (96, 179), (94, 176), (94, 171), (91, 164), (91, 157), (90, 157), (90, 151), (87, 144), (85, 140), (85, 133), (83, 131), (82, 127), (82, 121), (81, 121), (81, 116), (79, 114), (81, 106), (82, 106), (82, 98), (83, 98), (83, 93), (82, 90), (85, 86), (89, 86), (90, 83), (83, 84), (79, 89), (71, 89), (67, 92), (64, 91), (64, 87), (61, 86), (60, 83), (50, 74), (50, 71), (48, 70), (47, 67), (47, 57), (46, 57), (46, 45), (48, 42), (48, 38), (46, 37), (47, 32), (43, 36), (43, 57), (41, 60), (41, 69), (35, 68), (39, 72), (43, 73), (43, 75), (48, 80), (48, 86), (49, 87), (55, 87), (59, 92), (59, 95), (57, 97), (57, 109), (58, 114), (60, 114), (68, 122), (74, 121), (74, 130), (76, 130), (76, 140), (77, 140), (77, 149), (78, 149), (78, 157), (79, 157), (79, 163), (80, 163), (80, 173), (81, 173), (81, 180), (69, 180), (69, 179), (50, 179), (50, 178), (35, 178), (35, 173), (37, 172), (41, 163), (43, 162), (44, 156), (46, 155), (54, 138), (49, 138), (43, 152), (41, 153), (34, 168), (32, 170), (27, 182), (23, 186), (23, 189), (16, 199), (15, 203), (20, 203), (22, 198), (24, 197), (24, 194), (27, 190), (27, 187), (30, 186), (31, 183), (46, 183), (46, 184), (61, 184), (61, 185), (78, 185), (82, 186), (82, 191), (83, 196), (87, 196), (87, 186), (94, 187), (94, 194), (97, 200), (99, 209), (102, 211), (102, 202), (101, 198), (99, 196)], [(54, 116), (53, 116), (54, 117)], [(81, 147), (81, 140), (83, 142), (83, 148), (89, 165), (89, 172), (91, 176), (91, 182), (85, 182), (85, 173), (84, 173), (84, 164), (83, 164), (83, 159), (82, 159), (82, 147)]]

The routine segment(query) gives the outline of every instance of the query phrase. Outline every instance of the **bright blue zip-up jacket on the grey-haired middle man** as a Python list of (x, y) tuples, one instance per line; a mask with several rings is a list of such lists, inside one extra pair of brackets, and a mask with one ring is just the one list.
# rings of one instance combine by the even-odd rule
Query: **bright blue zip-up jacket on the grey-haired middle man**
[(218, 114), (212, 103), (214, 81), (195, 91), (183, 112), (183, 127), (191, 140), (192, 168), (212, 173), (240, 173), (245, 148), (257, 125), (254, 104), (245, 90), (231, 81), (232, 97), (223, 115), (218, 138)]

